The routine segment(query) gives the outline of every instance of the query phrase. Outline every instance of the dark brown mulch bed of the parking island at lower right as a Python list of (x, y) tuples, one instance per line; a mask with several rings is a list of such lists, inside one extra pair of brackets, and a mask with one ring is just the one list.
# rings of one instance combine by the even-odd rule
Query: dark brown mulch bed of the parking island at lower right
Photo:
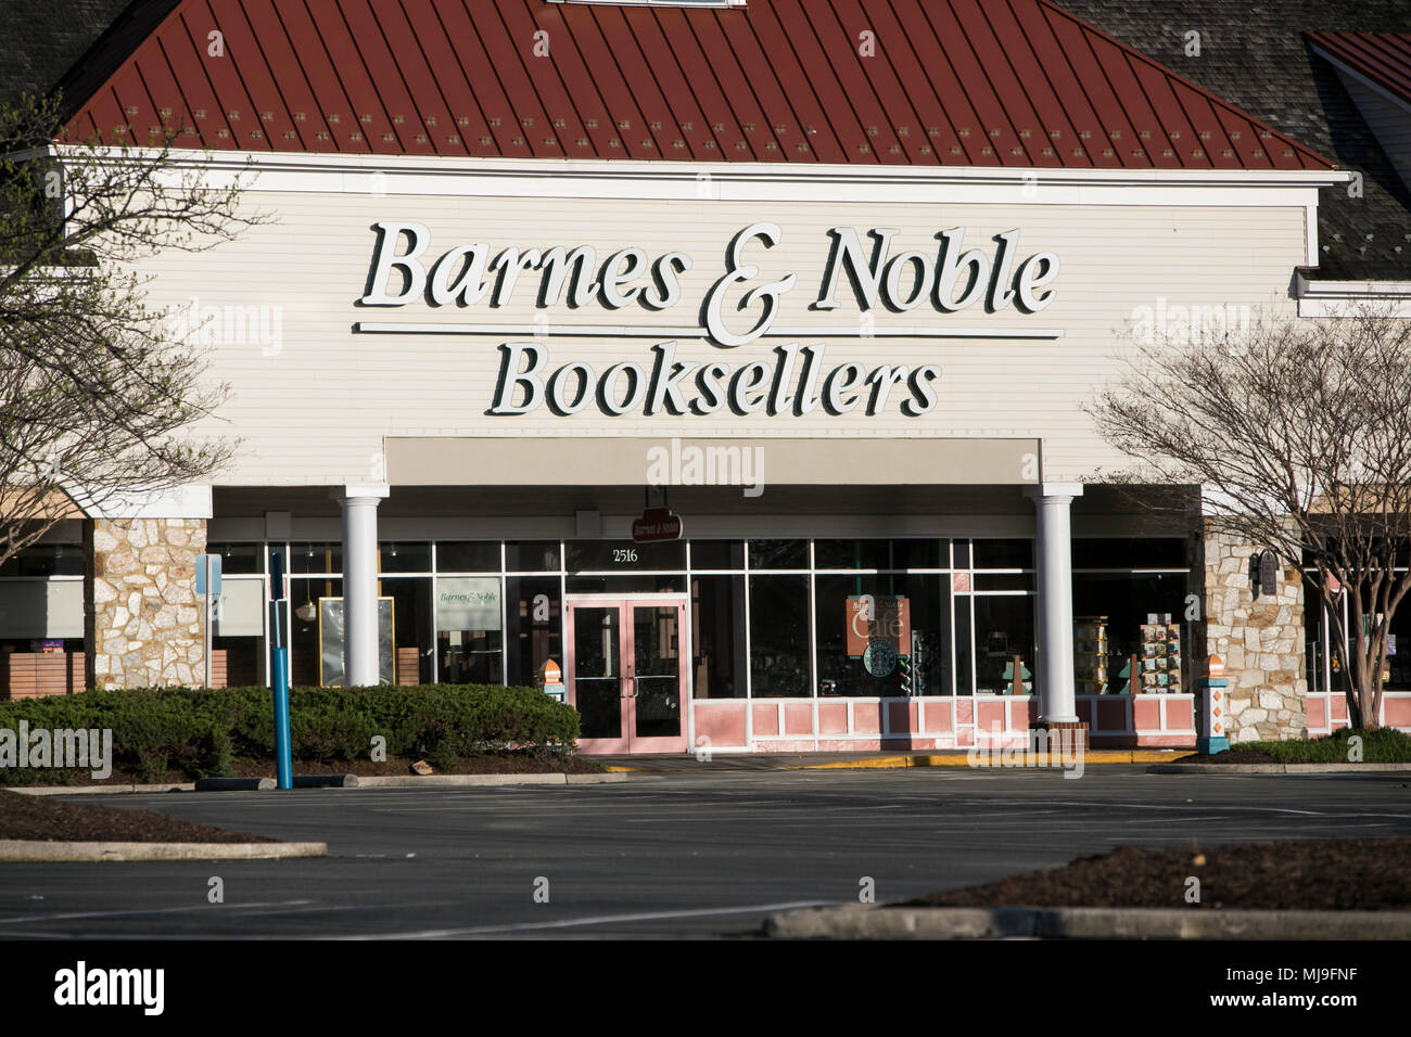
[[(1118, 847), (1062, 868), (931, 893), (909, 906), (1408, 910), (1408, 861), (1411, 838), (1283, 839), (1199, 849)], [(1197, 904), (1185, 902), (1192, 875), (1201, 880)]]

